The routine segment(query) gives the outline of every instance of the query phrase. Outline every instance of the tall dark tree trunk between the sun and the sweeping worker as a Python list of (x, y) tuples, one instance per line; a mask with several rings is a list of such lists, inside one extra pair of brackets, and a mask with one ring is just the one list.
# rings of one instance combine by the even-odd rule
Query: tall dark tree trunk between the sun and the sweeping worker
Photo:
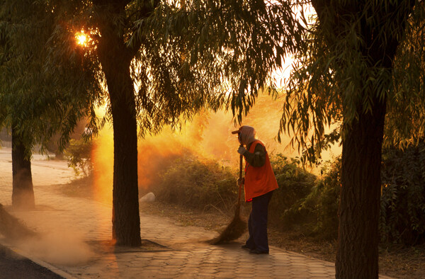
[[(114, 8), (117, 8), (116, 6)], [(113, 10), (125, 13), (123, 9)], [(111, 15), (111, 10), (106, 15)], [(113, 19), (103, 18), (98, 57), (106, 76), (113, 120), (113, 239), (117, 245), (140, 246), (137, 184), (137, 121), (130, 76), (132, 54)], [(120, 35), (121, 33), (121, 35)]]

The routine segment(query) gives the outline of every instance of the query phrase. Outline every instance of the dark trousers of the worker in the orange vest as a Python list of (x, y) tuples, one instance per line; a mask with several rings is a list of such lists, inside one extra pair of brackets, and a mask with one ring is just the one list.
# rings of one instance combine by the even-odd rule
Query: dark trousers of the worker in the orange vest
[(246, 245), (250, 249), (268, 252), (267, 214), (268, 203), (273, 191), (252, 199), (252, 210), (248, 220), (249, 239)]

